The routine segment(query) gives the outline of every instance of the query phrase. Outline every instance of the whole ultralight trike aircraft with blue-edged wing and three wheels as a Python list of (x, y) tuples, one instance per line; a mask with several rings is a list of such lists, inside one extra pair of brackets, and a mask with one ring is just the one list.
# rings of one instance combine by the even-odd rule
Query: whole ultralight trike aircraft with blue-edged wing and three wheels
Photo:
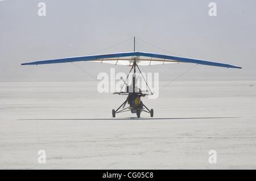
[[(136, 78), (135, 78), (136, 70), (138, 69), (139, 72), (141, 73), (139, 66), (184, 62), (184, 63), (193, 63), (193, 64), (208, 65), (208, 66), (219, 66), (224, 68), (241, 69), (241, 67), (239, 66), (222, 64), (222, 63), (212, 62), (212, 61), (204, 61), (204, 60), (197, 60), (192, 58), (170, 56), (166, 54), (137, 52), (135, 51), (135, 37), (134, 37), (134, 52), (121, 52), (121, 53), (110, 53), (110, 54), (97, 54), (97, 55), (82, 56), (82, 57), (59, 58), (54, 60), (28, 62), (21, 65), (58, 64), (58, 63), (77, 62), (77, 61), (93, 61), (93, 62), (109, 63), (109, 64), (115, 64), (115, 65), (131, 66), (129, 74), (133, 70), (133, 82), (131, 85), (129, 86), (127, 85), (126, 81), (127, 81), (127, 78), (129, 77), (129, 74), (128, 74), (123, 84), (123, 86), (126, 85), (126, 91), (122, 91), (121, 89), (120, 92), (114, 93), (118, 95), (127, 95), (127, 99), (125, 100), (125, 102), (121, 104), (121, 106), (117, 108), (117, 110), (112, 110), (113, 117), (115, 117), (116, 113), (125, 112), (125, 111), (131, 111), (131, 113), (137, 113), (137, 117), (140, 117), (141, 112), (144, 111), (144, 112), (150, 113), (150, 116), (153, 117), (154, 111), (152, 109), (149, 110), (141, 101), (141, 97), (146, 96), (148, 94), (144, 94), (143, 91), (141, 91), (141, 89), (139, 89), (136, 86)], [(146, 82), (146, 79), (144, 79), (144, 81)], [(148, 87), (147, 82), (146, 82), (146, 85)], [(148, 89), (150, 90), (150, 87), (148, 87)], [(153, 94), (151, 90), (150, 90), (150, 93)], [(125, 108), (126, 103), (128, 103), (130, 106)]]

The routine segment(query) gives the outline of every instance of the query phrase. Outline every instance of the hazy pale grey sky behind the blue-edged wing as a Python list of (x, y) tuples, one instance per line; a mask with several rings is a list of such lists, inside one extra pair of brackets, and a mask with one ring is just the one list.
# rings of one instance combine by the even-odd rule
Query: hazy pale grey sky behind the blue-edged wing
[[(46, 16), (38, 16), (38, 3), (46, 3)], [(209, 16), (216, 2), (217, 16)], [(20, 66), (22, 62), (93, 52), (133, 50), (133, 41), (108, 48), (136, 36), (172, 53), (242, 66), (226, 69), (197, 66), (184, 78), (256, 79), (256, 1), (0, 1), (0, 82), (92, 81), (71, 63)], [(137, 41), (137, 50), (165, 53)], [(114, 65), (77, 62), (97, 74)], [(162, 80), (175, 78), (193, 64), (144, 67), (159, 72)], [(117, 71), (128, 71), (115, 66)]]

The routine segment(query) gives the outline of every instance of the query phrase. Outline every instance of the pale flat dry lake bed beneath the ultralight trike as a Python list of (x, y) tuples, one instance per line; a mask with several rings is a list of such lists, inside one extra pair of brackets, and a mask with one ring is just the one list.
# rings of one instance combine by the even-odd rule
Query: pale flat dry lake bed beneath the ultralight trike
[(256, 169), (256, 82), (174, 82), (143, 99), (153, 118), (112, 118), (124, 99), (93, 82), (0, 83), (0, 169)]

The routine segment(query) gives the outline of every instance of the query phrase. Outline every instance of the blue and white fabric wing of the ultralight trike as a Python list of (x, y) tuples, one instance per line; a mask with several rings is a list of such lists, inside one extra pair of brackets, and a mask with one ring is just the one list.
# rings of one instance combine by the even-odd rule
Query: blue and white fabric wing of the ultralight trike
[(136, 59), (138, 65), (158, 65), (158, 64), (170, 64), (170, 63), (193, 63), (209, 66), (220, 66), (224, 68), (236, 68), (241, 69), (239, 66), (221, 64), (218, 62), (197, 60), (192, 58), (176, 57), (169, 56), (165, 54), (156, 54), (156, 53), (145, 53), (145, 52), (125, 52), (125, 53), (110, 53), (110, 54), (98, 54), (93, 56), (84, 56), (84, 57), (69, 57), (69, 58), (60, 58), (54, 60), (43, 60), (28, 62), (22, 65), (41, 65), (41, 64), (58, 64), (65, 62), (77, 62), (77, 61), (93, 61), (100, 63), (108, 63), (115, 65), (133, 65), (133, 61)]

